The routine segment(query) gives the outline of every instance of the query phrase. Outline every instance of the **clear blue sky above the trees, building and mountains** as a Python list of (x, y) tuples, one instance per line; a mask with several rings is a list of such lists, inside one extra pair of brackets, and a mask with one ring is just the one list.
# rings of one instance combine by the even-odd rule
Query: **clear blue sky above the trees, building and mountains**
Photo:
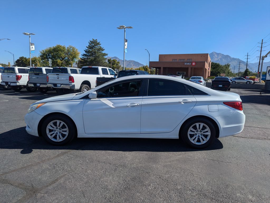
[[(158, 54), (211, 53), (244, 59), (247, 51), (270, 33), (269, 1), (2, 1), (0, 63), (13, 63), (4, 50), (29, 57), (35, 33), (36, 54), (46, 47), (75, 46), (80, 53), (97, 39), (108, 56), (123, 59), (127, 29), (127, 60), (148, 64)], [(268, 35), (265, 40), (270, 39)], [(270, 41), (265, 44), (270, 45)], [(258, 44), (259, 46), (259, 44)], [(259, 48), (258, 48), (259, 49)], [(270, 46), (265, 47), (265, 53)], [(259, 53), (258, 53), (259, 54)], [(257, 61), (254, 54), (250, 61)], [(33, 56), (33, 55), (32, 55)], [(269, 61), (270, 57), (267, 60)]]

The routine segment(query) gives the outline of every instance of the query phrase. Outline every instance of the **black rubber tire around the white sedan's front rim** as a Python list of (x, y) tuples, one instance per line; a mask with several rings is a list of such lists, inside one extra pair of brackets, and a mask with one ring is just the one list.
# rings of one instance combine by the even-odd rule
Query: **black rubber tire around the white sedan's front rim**
[[(63, 125), (66, 125), (66, 127), (68, 128), (68, 135), (66, 135), (65, 137), (63, 137), (64, 139), (62, 141), (54, 141), (52, 139), (55, 139), (57, 140), (57, 136), (60, 138), (60, 132), (59, 132), (59, 135), (53, 135), (53, 138), (50, 139), (47, 135), (47, 126), (49, 125), (50, 122), (53, 122), (53, 121), (56, 121), (56, 120), (59, 120), (59, 121), (62, 121), (64, 122), (65, 124)], [(57, 125), (56, 122), (53, 122), (54, 125)], [(62, 125), (62, 126), (63, 126)], [(60, 128), (58, 128), (59, 130)], [(48, 129), (50, 130), (51, 132), (49, 133), (52, 133), (54, 130), (52, 129)], [(57, 133), (57, 132), (56, 132)], [(76, 130), (76, 126), (74, 125), (74, 123), (71, 121), (71, 119), (68, 117), (68, 116), (64, 116), (64, 115), (51, 115), (49, 116), (48, 118), (46, 118), (43, 123), (42, 123), (42, 126), (41, 126), (41, 134), (42, 134), (42, 137), (50, 144), (53, 144), (53, 145), (65, 145), (67, 143), (69, 143), (71, 140), (73, 140), (75, 137), (76, 137), (76, 133), (77, 133), (77, 130)], [(63, 132), (62, 132), (62, 135), (63, 135)], [(65, 135), (65, 134), (64, 134)]]

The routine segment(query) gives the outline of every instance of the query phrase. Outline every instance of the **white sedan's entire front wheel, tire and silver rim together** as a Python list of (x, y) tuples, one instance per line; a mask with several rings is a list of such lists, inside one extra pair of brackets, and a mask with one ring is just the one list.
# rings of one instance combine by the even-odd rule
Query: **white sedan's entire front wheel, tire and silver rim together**
[(43, 121), (41, 133), (50, 144), (64, 145), (74, 139), (76, 127), (67, 116), (52, 115)]

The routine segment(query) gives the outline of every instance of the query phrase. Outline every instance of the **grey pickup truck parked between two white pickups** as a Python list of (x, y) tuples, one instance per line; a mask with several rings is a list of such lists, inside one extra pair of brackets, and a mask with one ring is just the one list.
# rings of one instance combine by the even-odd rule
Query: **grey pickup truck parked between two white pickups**
[(41, 93), (45, 93), (49, 90), (47, 83), (49, 81), (48, 73), (52, 72), (52, 68), (49, 67), (32, 67), (28, 72), (28, 86), (36, 87)]

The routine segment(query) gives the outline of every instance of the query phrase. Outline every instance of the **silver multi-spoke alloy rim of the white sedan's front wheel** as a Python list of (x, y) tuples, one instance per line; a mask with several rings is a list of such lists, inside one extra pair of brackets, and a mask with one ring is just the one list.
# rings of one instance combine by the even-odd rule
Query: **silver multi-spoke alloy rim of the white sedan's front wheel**
[(49, 139), (55, 142), (61, 142), (68, 137), (68, 126), (60, 120), (51, 121), (46, 128)]

